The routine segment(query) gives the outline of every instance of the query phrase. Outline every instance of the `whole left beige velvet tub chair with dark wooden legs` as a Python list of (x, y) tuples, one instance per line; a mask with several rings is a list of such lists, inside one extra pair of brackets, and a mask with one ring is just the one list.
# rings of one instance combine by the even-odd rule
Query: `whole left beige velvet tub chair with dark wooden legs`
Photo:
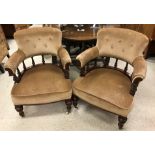
[[(66, 79), (69, 73), (64, 75), (64, 71), (68, 72), (69, 68), (67, 67), (66, 70), (66, 64), (70, 64), (71, 59), (68, 52), (62, 48), (62, 32), (56, 28), (37, 27), (19, 30), (15, 32), (14, 38), (18, 50), (8, 59), (5, 69), (14, 76), (15, 84), (11, 91), (11, 97), (17, 107), (16, 110), (22, 116), (20, 105), (66, 100), (69, 112), (72, 86), (71, 80)], [(32, 67), (24, 69), (24, 74), (19, 74), (17, 68), (25, 59), (45, 54), (59, 57), (63, 68), (59, 62), (46, 64), (42, 57), (42, 64), (35, 65), (34, 59), (32, 59)]]

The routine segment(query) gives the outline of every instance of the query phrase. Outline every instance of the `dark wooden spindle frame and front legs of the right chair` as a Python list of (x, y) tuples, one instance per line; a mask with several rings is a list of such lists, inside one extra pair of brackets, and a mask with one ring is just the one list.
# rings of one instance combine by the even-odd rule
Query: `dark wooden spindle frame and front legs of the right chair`
[[(115, 59), (114, 66), (109, 65), (111, 58)], [(132, 96), (134, 96), (136, 91), (137, 91), (138, 84), (140, 81), (142, 81), (142, 79), (140, 77), (138, 77), (134, 81), (132, 81), (132, 74), (130, 74), (128, 72), (128, 66), (130, 64), (128, 62), (125, 62), (126, 65), (125, 65), (124, 69), (120, 69), (120, 68), (118, 68), (118, 60), (121, 60), (121, 59), (105, 56), (105, 57), (98, 57), (98, 58), (95, 58), (95, 59), (89, 61), (82, 68), (81, 68), (81, 62), (79, 60), (76, 61), (76, 65), (77, 65), (77, 67), (80, 67), (80, 76), (85, 76), (88, 72), (90, 72), (94, 69), (97, 69), (97, 68), (108, 68), (108, 69), (114, 69), (114, 70), (120, 71), (121, 73), (123, 73), (125, 76), (127, 76), (130, 79), (131, 88), (130, 88), (129, 93)], [(123, 61), (123, 60), (121, 60), (121, 61)], [(78, 97), (73, 95), (72, 100), (74, 101), (73, 105), (75, 107), (77, 107)], [(111, 112), (111, 113), (113, 113), (113, 112)], [(114, 113), (114, 114), (116, 114), (116, 113)], [(116, 114), (116, 115), (118, 115), (118, 114)], [(123, 125), (126, 123), (126, 121), (127, 121), (127, 117), (118, 115), (118, 127), (119, 127), (119, 129), (123, 128)]]

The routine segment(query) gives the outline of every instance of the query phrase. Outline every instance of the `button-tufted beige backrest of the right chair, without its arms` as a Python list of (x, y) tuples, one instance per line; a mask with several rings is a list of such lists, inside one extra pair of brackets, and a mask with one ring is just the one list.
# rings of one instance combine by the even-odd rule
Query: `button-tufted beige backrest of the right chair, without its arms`
[(103, 28), (97, 35), (100, 56), (111, 56), (133, 63), (136, 57), (143, 56), (148, 38), (142, 33), (123, 28)]

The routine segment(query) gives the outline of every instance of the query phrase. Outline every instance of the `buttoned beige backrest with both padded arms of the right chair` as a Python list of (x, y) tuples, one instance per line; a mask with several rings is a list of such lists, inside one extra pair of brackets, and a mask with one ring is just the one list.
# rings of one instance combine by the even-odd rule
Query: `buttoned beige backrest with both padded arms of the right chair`
[(119, 58), (133, 66), (134, 81), (136, 78), (145, 78), (147, 68), (143, 52), (147, 45), (148, 38), (139, 32), (123, 28), (103, 28), (97, 34), (96, 46), (85, 50), (76, 59), (83, 67), (98, 56)]

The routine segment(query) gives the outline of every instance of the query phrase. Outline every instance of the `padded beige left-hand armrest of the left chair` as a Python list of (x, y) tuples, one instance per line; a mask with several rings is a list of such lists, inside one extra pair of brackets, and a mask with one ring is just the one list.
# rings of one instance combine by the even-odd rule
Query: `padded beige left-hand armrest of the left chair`
[(10, 76), (15, 75), (17, 67), (25, 58), (26, 58), (25, 54), (20, 50), (17, 50), (15, 53), (11, 55), (11, 57), (4, 65), (5, 70), (9, 72)]

